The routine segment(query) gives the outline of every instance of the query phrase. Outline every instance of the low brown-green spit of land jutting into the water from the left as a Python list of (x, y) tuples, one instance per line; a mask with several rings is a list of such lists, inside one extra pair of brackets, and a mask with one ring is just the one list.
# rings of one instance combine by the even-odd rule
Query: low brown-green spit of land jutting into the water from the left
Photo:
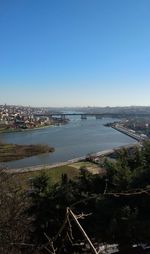
[(19, 160), (26, 157), (53, 152), (48, 145), (16, 145), (0, 143), (0, 162)]

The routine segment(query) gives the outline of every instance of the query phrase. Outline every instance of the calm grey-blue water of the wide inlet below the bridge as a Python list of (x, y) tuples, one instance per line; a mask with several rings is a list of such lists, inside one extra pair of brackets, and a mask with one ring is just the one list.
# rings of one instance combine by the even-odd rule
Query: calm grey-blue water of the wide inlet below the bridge
[(49, 127), (40, 130), (5, 133), (0, 140), (15, 144), (48, 144), (55, 148), (54, 153), (33, 156), (27, 159), (5, 163), (9, 168), (19, 168), (38, 164), (57, 163), (111, 149), (121, 145), (136, 143), (136, 141), (112, 128), (103, 126), (114, 119), (99, 119), (89, 117), (70, 117), (70, 122), (64, 126)]

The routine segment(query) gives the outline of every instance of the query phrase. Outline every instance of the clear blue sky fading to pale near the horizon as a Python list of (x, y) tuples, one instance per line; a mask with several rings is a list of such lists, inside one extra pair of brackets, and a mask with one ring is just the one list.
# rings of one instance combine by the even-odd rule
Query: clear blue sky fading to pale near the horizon
[(0, 104), (150, 105), (150, 0), (0, 0)]

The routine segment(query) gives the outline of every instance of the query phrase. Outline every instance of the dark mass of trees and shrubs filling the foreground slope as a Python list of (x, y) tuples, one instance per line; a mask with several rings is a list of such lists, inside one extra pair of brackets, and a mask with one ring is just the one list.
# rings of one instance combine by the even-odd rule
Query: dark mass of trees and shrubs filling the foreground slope
[(68, 207), (95, 246), (117, 243), (129, 253), (133, 244), (149, 244), (150, 143), (119, 151), (115, 161), (105, 161), (105, 169), (101, 175), (82, 167), (75, 178), (66, 172), (55, 184), (41, 172), (26, 191), (15, 176), (2, 172), (0, 253), (92, 253)]

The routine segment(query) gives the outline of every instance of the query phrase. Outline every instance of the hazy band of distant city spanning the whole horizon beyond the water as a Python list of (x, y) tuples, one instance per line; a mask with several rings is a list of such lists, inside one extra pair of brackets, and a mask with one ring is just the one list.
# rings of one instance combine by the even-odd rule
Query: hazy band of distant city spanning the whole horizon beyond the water
[(42, 108), (5, 104), (0, 105), (0, 132), (66, 124), (68, 119), (61, 117), (64, 112), (106, 114), (106, 117), (112, 114), (113, 117), (121, 118), (123, 127), (150, 137), (150, 107), (143, 106)]

